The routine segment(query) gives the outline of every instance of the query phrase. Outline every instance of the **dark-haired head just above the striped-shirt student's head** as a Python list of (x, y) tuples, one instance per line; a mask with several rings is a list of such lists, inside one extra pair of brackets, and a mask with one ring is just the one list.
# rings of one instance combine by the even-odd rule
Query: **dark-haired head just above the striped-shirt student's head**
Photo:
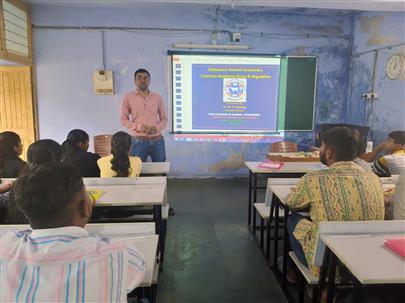
[(48, 162), (60, 162), (62, 147), (51, 139), (38, 140), (32, 143), (27, 150), (27, 160), (31, 166)]

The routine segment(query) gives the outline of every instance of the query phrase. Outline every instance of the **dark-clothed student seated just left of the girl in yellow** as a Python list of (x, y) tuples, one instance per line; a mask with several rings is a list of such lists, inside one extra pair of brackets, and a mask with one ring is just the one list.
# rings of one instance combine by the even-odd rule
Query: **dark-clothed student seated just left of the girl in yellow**
[(83, 177), (100, 177), (100, 169), (97, 165), (100, 156), (87, 151), (89, 135), (84, 130), (71, 130), (65, 142), (62, 143), (62, 148), (62, 162), (75, 166)]

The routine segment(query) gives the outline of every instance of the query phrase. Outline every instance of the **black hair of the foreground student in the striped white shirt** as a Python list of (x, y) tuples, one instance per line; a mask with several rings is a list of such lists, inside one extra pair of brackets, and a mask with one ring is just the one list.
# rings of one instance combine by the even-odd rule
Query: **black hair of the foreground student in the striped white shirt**
[[(68, 222), (68, 209), (83, 189), (80, 172), (67, 163), (49, 162), (25, 171), (13, 184), (13, 202), (32, 224), (52, 226), (54, 222)], [(57, 223), (58, 224), (58, 223)]]

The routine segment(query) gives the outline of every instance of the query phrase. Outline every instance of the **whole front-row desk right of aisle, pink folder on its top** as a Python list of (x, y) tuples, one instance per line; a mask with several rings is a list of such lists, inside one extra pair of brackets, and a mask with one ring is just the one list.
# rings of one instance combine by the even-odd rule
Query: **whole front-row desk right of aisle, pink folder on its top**
[[(266, 178), (299, 178), (308, 172), (326, 168), (326, 166), (320, 162), (290, 162), (284, 163), (281, 169), (275, 171), (260, 168), (259, 165), (261, 163), (262, 162), (245, 162), (246, 167), (249, 169), (248, 227), (252, 228), (253, 232), (255, 232), (256, 225), (256, 212), (253, 211), (253, 204), (257, 202), (257, 190), (266, 188), (266, 186), (257, 185), (259, 175)], [(252, 225), (252, 221), (254, 225)]]

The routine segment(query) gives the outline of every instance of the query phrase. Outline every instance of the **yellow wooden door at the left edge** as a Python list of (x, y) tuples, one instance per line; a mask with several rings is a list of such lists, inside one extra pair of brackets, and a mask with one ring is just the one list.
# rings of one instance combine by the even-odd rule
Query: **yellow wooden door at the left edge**
[(0, 132), (13, 131), (23, 144), (21, 158), (35, 141), (31, 67), (0, 66)]

